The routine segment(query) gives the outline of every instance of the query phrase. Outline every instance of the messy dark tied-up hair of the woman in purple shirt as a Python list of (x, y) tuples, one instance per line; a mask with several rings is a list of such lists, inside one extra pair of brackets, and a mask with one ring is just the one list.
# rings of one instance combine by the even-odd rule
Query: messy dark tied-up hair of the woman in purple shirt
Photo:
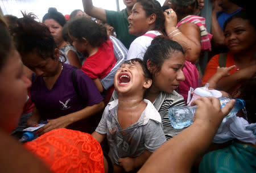
[(18, 27), (14, 31), (16, 48), (21, 56), (35, 51), (43, 59), (54, 58), (53, 52), (57, 46), (51, 32), (35, 18), (34, 14), (29, 13), (18, 19)]

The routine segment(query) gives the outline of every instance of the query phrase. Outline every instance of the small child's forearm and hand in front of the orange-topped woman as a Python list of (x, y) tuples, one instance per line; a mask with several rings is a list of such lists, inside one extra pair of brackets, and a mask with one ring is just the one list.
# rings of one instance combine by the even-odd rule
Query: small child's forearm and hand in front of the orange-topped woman
[(228, 77), (229, 74), (229, 70), (233, 69), (233, 67), (235, 67), (236, 65), (232, 65), (230, 67), (217, 67), (217, 72), (215, 74), (212, 75), (212, 77), (207, 81), (207, 83), (209, 83), (209, 89), (213, 90), (216, 86), (218, 81), (220, 81), (221, 78), (223, 77)]

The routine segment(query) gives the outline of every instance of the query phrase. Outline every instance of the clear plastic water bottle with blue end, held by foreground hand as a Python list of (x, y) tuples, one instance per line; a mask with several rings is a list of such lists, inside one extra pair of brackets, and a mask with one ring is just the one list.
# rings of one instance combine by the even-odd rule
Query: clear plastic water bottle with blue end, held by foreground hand
[[(232, 98), (229, 97), (220, 97), (218, 98), (221, 103), (221, 108), (224, 107), (229, 100)], [(236, 116), (237, 112), (245, 107), (245, 101), (241, 99), (235, 99), (236, 103), (234, 104), (233, 109), (226, 115), (226, 118)], [(175, 129), (185, 128), (192, 124), (193, 116), (196, 112), (196, 106), (175, 106), (171, 107), (168, 111), (168, 117), (171, 122), (171, 125)]]

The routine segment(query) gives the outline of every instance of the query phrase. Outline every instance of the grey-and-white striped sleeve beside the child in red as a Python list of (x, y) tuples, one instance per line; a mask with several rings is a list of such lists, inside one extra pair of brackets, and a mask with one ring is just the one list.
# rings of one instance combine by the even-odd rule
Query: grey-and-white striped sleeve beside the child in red
[(126, 61), (128, 50), (126, 47), (121, 43), (120, 40), (117, 38), (110, 36), (109, 39), (113, 43), (114, 47), (114, 56), (117, 59), (117, 62), (115, 63), (112, 70), (110, 70), (109, 74), (107, 74), (104, 78), (100, 79), (101, 85), (105, 88), (105, 90), (108, 90), (109, 87), (113, 86), (114, 84), (114, 76), (115, 72), (117, 72), (117, 69), (119, 66)]

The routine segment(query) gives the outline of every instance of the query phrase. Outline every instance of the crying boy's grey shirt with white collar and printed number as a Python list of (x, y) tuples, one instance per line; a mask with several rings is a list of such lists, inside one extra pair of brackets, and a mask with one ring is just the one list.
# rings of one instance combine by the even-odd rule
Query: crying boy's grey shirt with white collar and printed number
[(107, 135), (110, 153), (116, 164), (119, 158), (138, 157), (145, 150), (153, 153), (166, 142), (159, 112), (149, 100), (144, 99), (144, 102), (147, 107), (141, 117), (126, 129), (122, 129), (118, 123), (118, 99), (105, 108), (96, 132)]

